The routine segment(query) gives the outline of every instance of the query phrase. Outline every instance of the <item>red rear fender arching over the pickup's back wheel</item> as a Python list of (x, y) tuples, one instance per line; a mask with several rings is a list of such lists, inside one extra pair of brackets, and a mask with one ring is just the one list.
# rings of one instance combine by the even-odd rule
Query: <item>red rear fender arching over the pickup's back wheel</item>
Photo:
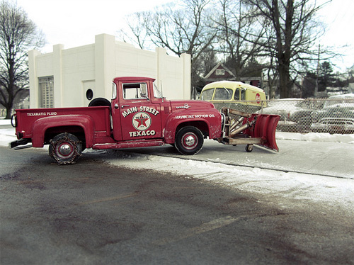
[(32, 126), (33, 147), (43, 147), (45, 133), (50, 128), (79, 126), (84, 130), (86, 147), (93, 145), (93, 120), (89, 115), (57, 115), (40, 118)]

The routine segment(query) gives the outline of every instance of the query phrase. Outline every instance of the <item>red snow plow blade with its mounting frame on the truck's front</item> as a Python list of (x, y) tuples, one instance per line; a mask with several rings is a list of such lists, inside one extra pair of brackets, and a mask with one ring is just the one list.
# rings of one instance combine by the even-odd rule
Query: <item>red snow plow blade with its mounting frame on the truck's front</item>
[(232, 108), (222, 108), (222, 113), (225, 115), (225, 128), (219, 142), (226, 145), (246, 145), (246, 152), (251, 152), (253, 145), (279, 152), (275, 141), (279, 115), (244, 113)]

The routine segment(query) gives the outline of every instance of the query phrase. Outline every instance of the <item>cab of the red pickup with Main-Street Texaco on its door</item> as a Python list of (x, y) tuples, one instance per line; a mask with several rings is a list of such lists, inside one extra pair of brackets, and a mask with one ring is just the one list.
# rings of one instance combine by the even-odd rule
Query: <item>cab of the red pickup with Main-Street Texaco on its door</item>
[[(153, 89), (150, 89), (153, 88)], [(153, 79), (116, 78), (112, 87), (113, 138), (116, 141), (162, 138), (170, 104)]]

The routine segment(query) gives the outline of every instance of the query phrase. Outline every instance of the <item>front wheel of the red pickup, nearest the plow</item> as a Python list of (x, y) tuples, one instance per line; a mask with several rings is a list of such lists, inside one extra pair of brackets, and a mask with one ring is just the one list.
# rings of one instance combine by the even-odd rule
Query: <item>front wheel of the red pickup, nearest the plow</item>
[(186, 126), (178, 130), (175, 138), (175, 147), (181, 154), (198, 154), (202, 150), (204, 136), (194, 126)]

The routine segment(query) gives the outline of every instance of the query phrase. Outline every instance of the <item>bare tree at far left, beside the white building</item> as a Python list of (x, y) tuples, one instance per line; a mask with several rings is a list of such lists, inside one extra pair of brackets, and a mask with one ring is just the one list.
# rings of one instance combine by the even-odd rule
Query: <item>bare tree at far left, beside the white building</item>
[(0, 104), (11, 118), (13, 103), (28, 88), (28, 50), (42, 47), (44, 38), (21, 7), (0, 3)]

